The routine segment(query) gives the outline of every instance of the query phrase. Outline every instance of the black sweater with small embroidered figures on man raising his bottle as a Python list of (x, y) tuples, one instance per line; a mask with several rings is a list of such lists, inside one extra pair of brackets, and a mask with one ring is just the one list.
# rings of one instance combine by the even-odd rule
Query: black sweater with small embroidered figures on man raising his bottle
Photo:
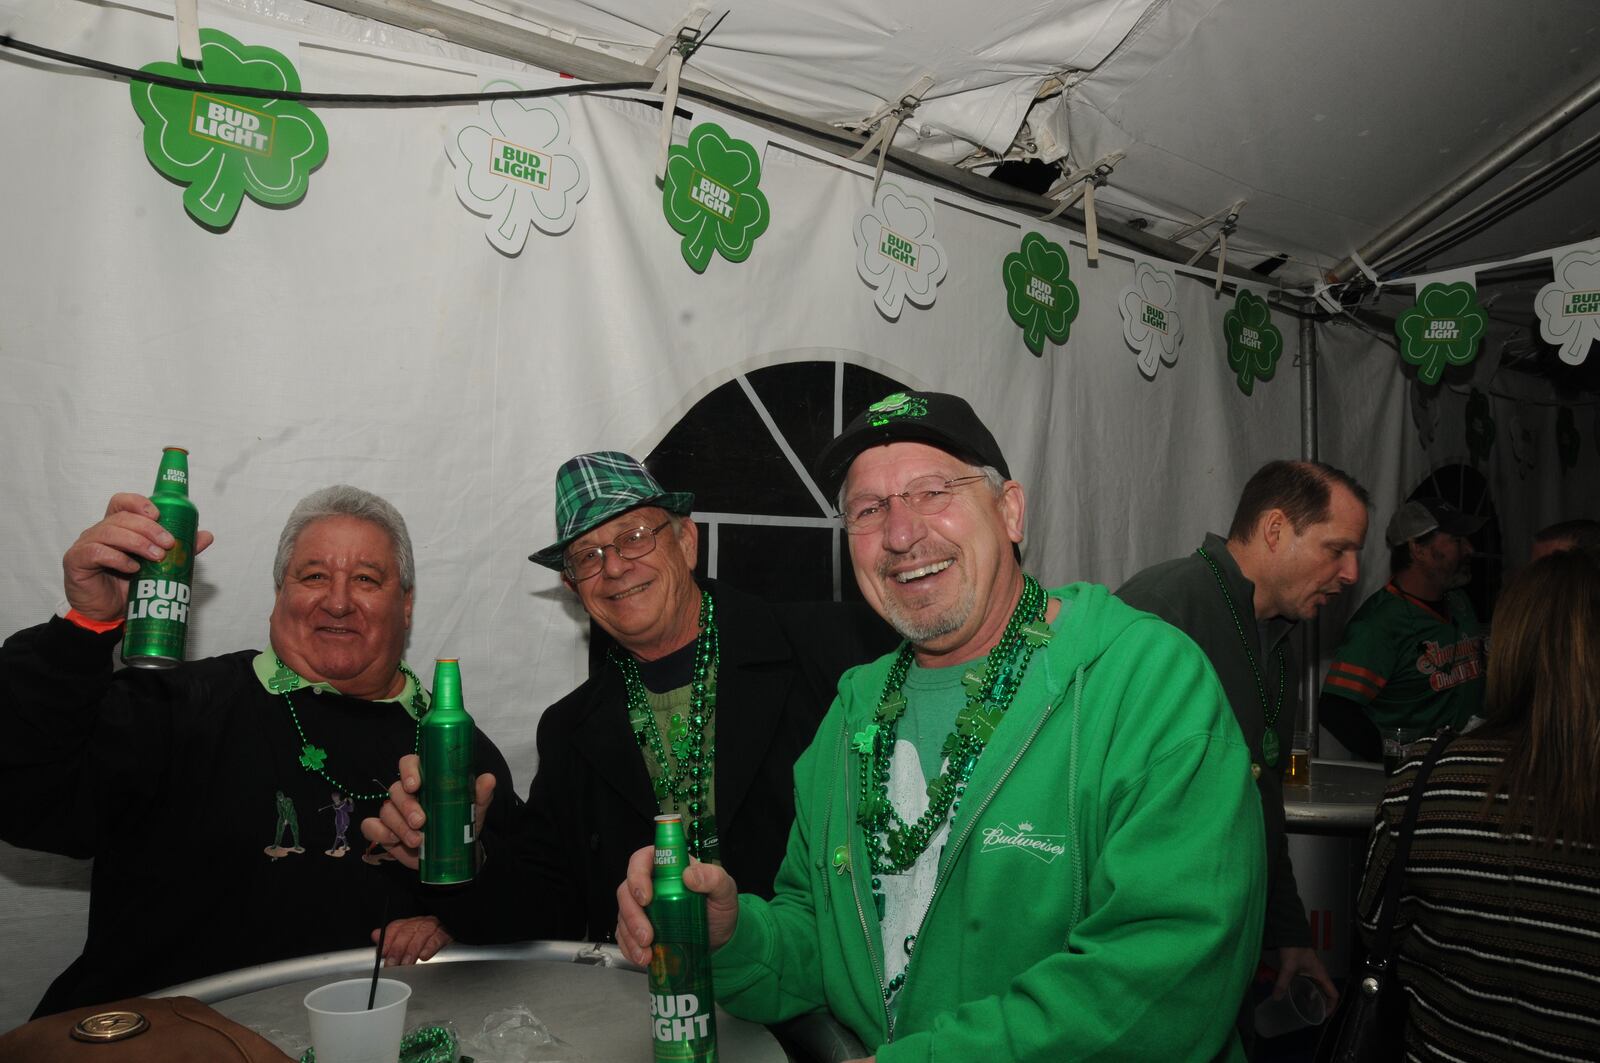
[[(349, 852), (331, 855), (334, 788), (301, 767), (290, 709), (258, 682), (253, 650), (114, 674), (118, 639), (58, 618), (0, 647), (0, 837), (94, 858), (83, 954), (35, 1015), (365, 946), (386, 917), (427, 909), (414, 872), (363, 860), (360, 821), (379, 800), (354, 802)], [(381, 792), (413, 751), (400, 703), (293, 700), (323, 770), (354, 792)], [(477, 765), (515, 792), (482, 733)], [(304, 852), (283, 852), (296, 840)]]

